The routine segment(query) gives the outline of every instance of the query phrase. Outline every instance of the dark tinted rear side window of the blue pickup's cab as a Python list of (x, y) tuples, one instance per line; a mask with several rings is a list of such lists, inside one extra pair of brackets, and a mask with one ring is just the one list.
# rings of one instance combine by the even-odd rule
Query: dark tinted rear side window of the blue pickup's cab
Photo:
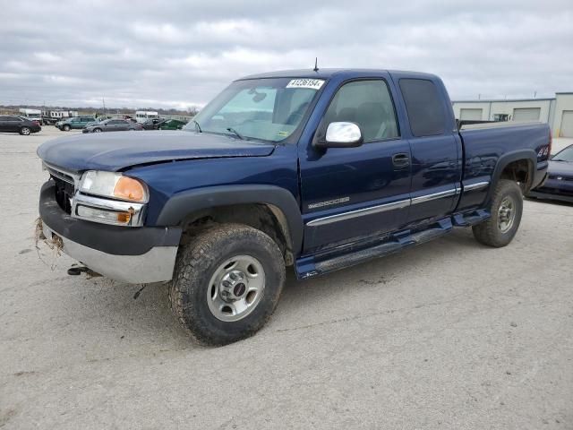
[(445, 132), (446, 112), (434, 82), (402, 78), (400, 91), (406, 103), (410, 130), (416, 137), (435, 136)]

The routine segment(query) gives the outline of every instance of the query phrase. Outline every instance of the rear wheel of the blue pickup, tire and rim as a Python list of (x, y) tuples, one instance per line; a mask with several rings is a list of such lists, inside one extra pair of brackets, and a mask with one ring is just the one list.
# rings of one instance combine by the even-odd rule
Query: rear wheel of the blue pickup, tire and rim
[(509, 179), (500, 179), (493, 191), (490, 211), (490, 219), (472, 228), (475, 239), (496, 248), (508, 245), (516, 236), (523, 214), (523, 195), (519, 185)]

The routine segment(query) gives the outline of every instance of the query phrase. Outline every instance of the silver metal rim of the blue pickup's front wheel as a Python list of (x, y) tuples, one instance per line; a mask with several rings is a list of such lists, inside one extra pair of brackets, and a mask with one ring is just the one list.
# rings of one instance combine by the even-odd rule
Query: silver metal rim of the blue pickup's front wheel
[(207, 288), (211, 314), (220, 321), (242, 320), (259, 305), (265, 289), (265, 271), (250, 255), (237, 255), (220, 264)]

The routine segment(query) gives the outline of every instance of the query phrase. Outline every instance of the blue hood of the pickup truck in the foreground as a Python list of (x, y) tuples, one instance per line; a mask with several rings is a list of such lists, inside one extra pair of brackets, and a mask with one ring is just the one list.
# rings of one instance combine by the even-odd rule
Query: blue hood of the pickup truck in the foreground
[(73, 171), (117, 171), (180, 159), (265, 157), (275, 145), (231, 136), (186, 131), (73, 134), (42, 144), (38, 156)]

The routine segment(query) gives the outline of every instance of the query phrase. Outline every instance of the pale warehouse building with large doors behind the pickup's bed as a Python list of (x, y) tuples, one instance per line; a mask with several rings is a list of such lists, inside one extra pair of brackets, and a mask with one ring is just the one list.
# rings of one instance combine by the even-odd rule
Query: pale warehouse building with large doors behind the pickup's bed
[(573, 92), (552, 99), (452, 101), (458, 119), (473, 121), (541, 121), (555, 137), (573, 137)]

